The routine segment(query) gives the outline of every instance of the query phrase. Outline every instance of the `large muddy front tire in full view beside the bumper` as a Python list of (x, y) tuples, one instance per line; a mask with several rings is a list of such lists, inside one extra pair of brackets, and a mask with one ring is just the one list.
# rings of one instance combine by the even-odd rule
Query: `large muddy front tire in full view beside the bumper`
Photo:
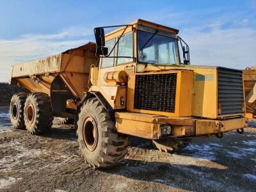
[(79, 148), (90, 166), (108, 168), (124, 159), (129, 138), (116, 132), (115, 122), (98, 99), (84, 102), (77, 127)]

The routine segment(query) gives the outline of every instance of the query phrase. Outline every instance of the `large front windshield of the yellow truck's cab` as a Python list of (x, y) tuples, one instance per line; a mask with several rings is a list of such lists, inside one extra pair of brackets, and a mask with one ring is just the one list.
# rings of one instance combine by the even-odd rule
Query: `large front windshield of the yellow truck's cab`
[(138, 61), (160, 65), (179, 64), (177, 39), (138, 30)]

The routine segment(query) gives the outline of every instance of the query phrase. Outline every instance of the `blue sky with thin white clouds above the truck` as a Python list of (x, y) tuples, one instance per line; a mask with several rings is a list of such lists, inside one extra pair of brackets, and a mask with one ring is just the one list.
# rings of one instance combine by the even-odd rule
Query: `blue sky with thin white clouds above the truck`
[(94, 42), (93, 28), (136, 19), (179, 29), (191, 65), (256, 65), (256, 0), (0, 0), (0, 82), (12, 65)]

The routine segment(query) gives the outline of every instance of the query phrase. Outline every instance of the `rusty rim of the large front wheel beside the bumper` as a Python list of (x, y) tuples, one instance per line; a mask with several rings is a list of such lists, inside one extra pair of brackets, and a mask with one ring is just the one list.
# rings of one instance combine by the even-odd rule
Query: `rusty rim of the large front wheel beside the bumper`
[(83, 124), (83, 140), (88, 150), (93, 151), (98, 143), (98, 128), (92, 116), (84, 120)]

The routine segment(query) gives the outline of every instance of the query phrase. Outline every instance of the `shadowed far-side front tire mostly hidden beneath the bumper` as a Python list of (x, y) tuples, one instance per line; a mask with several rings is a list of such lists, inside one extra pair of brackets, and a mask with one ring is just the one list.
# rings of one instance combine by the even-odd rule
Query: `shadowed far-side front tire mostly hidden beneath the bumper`
[(180, 152), (183, 148), (189, 145), (190, 139), (180, 138), (165, 138), (161, 140), (153, 140), (154, 147), (163, 152)]

